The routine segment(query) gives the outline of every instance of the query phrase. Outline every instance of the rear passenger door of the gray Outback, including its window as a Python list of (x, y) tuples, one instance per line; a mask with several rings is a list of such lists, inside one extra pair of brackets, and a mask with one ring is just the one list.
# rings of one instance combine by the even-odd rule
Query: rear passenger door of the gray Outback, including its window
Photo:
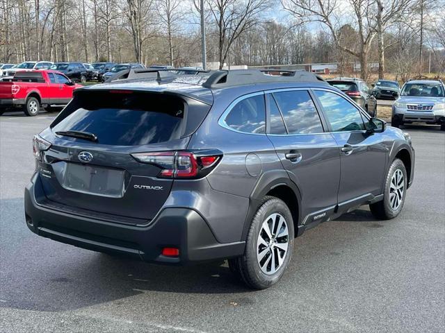
[(326, 221), (334, 213), (340, 181), (337, 142), (325, 133), (307, 89), (266, 94), (267, 130), (289, 178), (300, 189), (302, 222)]

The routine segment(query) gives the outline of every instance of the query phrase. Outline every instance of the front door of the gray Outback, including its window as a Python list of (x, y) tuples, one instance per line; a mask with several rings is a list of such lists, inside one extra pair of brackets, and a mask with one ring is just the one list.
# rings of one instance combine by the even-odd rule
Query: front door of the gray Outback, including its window
[(368, 133), (369, 118), (341, 94), (323, 89), (314, 89), (314, 94), (340, 153), (339, 207), (380, 195), (389, 153), (384, 135)]

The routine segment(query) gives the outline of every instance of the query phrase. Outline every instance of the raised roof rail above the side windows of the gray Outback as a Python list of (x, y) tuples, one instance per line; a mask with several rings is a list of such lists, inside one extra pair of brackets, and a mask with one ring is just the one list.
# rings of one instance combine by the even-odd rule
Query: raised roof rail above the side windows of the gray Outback
[(282, 69), (235, 69), (220, 70), (202, 84), (206, 88), (222, 88), (237, 85), (254, 85), (257, 83), (292, 83), (292, 82), (323, 82), (326, 81), (309, 71), (288, 71)]

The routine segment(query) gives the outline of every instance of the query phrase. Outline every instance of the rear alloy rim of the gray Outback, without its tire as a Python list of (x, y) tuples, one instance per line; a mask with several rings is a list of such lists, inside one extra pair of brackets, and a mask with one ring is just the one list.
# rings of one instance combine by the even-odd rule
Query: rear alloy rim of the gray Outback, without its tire
[(261, 225), (257, 240), (257, 261), (267, 275), (276, 273), (289, 248), (289, 228), (281, 214), (271, 214)]

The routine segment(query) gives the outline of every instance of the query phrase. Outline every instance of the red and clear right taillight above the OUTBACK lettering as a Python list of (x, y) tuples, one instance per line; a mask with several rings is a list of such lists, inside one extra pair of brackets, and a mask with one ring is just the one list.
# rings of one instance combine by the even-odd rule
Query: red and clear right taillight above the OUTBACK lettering
[(160, 167), (159, 178), (202, 178), (216, 167), (222, 155), (189, 151), (131, 154), (139, 162)]

